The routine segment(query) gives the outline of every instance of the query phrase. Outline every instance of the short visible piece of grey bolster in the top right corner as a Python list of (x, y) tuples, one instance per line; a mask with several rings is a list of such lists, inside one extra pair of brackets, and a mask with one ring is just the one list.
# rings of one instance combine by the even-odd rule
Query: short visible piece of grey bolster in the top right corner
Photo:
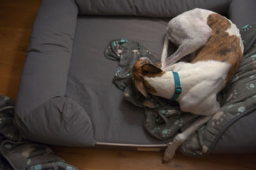
[(256, 22), (255, 0), (232, 0), (228, 9), (228, 18), (239, 29), (247, 24)]

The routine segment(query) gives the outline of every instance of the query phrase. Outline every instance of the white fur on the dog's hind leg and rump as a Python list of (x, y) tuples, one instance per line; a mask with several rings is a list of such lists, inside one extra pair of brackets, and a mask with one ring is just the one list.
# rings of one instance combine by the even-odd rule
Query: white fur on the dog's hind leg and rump
[[(212, 29), (207, 25), (207, 18), (213, 11), (195, 8), (186, 11), (170, 20), (167, 25), (167, 34), (164, 40), (163, 52), (161, 55), (162, 67), (168, 67), (177, 62), (182, 57), (195, 52), (201, 46), (204, 46), (211, 37)], [(236, 35), (240, 39), (240, 46), (243, 52), (243, 42), (236, 25), (231, 24), (228, 34)], [(170, 57), (167, 57), (169, 40), (179, 46), (177, 51)], [(216, 42), (218, 43), (218, 42)]]

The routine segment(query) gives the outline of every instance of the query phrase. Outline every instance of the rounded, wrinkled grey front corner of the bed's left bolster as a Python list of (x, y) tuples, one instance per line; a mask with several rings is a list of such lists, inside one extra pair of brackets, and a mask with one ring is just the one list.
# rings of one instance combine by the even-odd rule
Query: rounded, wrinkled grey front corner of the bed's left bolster
[(93, 146), (92, 122), (84, 109), (67, 97), (54, 97), (26, 117), (15, 115), (15, 125), (33, 141), (63, 146)]

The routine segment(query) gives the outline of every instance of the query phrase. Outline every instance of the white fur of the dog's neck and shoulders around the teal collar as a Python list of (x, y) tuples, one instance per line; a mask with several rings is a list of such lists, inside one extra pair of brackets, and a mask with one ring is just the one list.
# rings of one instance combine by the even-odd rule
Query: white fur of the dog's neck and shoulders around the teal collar
[[(172, 68), (179, 73), (182, 92), (177, 101), (182, 111), (195, 115), (212, 115), (220, 109), (216, 101), (216, 94), (225, 84), (225, 78), (230, 64), (209, 60), (194, 64), (178, 62)], [(165, 70), (166, 71), (166, 70)], [(148, 78), (143, 77), (154, 89), (156, 96), (170, 99), (175, 92), (172, 71), (167, 71), (163, 76)]]

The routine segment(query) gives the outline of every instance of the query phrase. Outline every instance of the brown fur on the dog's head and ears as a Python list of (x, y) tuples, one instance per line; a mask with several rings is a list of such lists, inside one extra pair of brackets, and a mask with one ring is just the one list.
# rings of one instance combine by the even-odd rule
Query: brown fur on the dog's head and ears
[(150, 94), (156, 94), (157, 91), (147, 81), (145, 81), (143, 77), (155, 77), (163, 73), (165, 72), (152, 64), (148, 58), (141, 57), (140, 60), (134, 62), (132, 67), (132, 80), (134, 81), (135, 87), (141, 92), (141, 94), (148, 98), (148, 92), (150, 92)]

